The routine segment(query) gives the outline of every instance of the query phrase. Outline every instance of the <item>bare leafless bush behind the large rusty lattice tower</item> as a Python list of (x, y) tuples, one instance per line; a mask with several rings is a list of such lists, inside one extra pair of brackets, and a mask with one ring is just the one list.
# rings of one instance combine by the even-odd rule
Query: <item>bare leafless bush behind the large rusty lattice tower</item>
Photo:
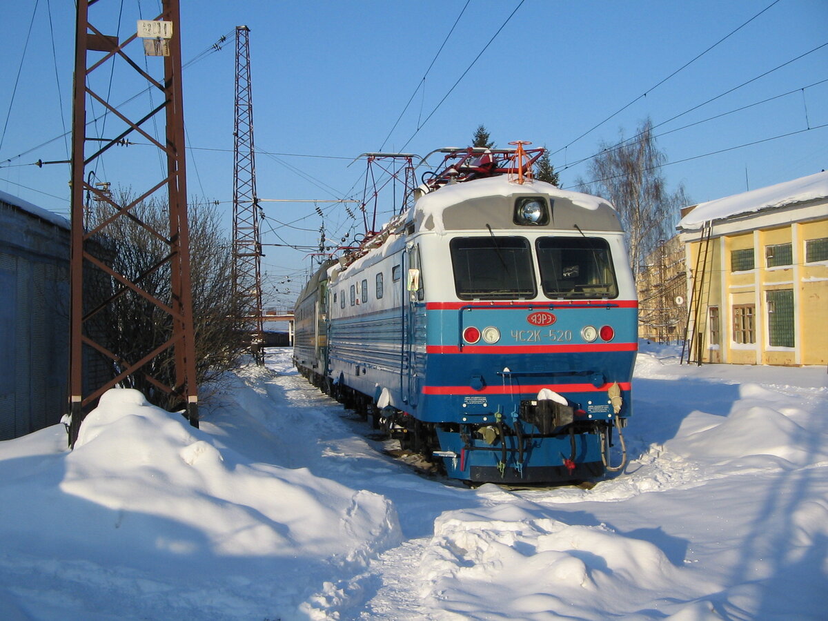
[[(128, 190), (118, 196), (120, 205), (132, 202)], [(89, 209), (89, 224), (103, 222), (112, 209), (103, 203)], [(99, 242), (107, 255), (107, 262), (115, 272), (132, 282), (140, 282), (144, 291), (165, 304), (171, 303), (170, 262), (164, 260), (168, 252), (157, 232), (168, 232), (166, 209), (154, 201), (137, 205), (133, 211), (137, 219), (118, 218), (108, 224), (106, 237)], [(230, 240), (222, 230), (219, 214), (212, 205), (195, 203), (188, 210), (190, 223), (190, 278), (192, 282), (193, 320), (195, 325), (196, 380), (200, 387), (216, 381), (225, 371), (238, 364), (248, 346), (238, 320), (241, 315), (233, 298), (232, 258)], [(93, 298), (114, 300), (97, 314), (94, 330), (101, 333), (100, 342), (118, 359), (129, 362), (141, 360), (159, 344), (171, 338), (170, 315), (128, 287), (111, 279), (99, 279)], [(88, 302), (89, 303), (89, 302)], [(94, 300), (90, 303), (94, 307)], [(161, 378), (167, 386), (174, 383), (175, 363), (170, 351), (156, 356), (150, 363), (152, 376)], [(118, 371), (118, 369), (115, 369)], [(137, 388), (147, 399), (160, 407), (173, 409), (181, 404), (159, 389), (142, 373), (135, 373), (124, 381), (128, 388)], [(203, 398), (202, 398), (203, 401)]]

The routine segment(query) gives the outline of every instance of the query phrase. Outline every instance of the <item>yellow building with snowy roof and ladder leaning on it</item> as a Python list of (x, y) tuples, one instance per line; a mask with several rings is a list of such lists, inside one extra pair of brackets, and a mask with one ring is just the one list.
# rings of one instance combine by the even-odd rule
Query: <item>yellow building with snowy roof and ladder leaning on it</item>
[(828, 363), (828, 172), (681, 215), (689, 359)]

